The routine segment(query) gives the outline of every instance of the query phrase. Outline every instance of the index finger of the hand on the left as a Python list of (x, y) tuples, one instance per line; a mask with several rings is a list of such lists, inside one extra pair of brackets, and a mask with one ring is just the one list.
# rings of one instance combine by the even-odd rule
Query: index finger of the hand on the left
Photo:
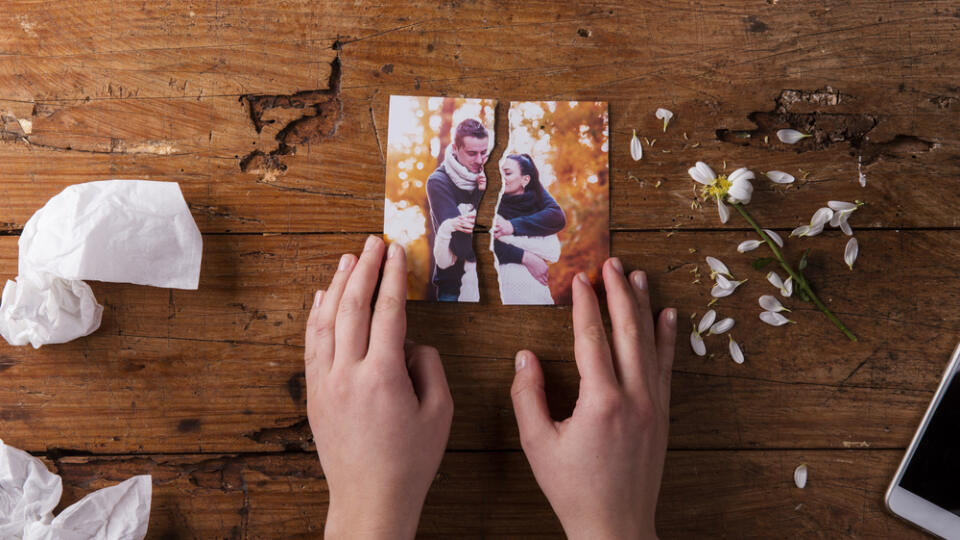
[[(369, 351), (378, 358), (403, 359), (407, 335), (407, 257), (403, 246), (390, 244), (380, 292), (370, 321)], [(402, 365), (402, 364), (398, 364)]]

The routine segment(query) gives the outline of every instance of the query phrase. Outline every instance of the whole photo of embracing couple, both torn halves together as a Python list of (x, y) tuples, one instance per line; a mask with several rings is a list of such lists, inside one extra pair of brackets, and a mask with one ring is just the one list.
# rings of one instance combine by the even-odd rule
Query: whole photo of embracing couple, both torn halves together
[[(495, 105), (391, 96), (384, 235), (407, 250), (410, 299), (480, 300), (473, 230)], [(595, 278), (608, 256), (606, 115), (605, 103), (511, 104), (489, 229), (503, 304), (569, 304), (573, 276)]]

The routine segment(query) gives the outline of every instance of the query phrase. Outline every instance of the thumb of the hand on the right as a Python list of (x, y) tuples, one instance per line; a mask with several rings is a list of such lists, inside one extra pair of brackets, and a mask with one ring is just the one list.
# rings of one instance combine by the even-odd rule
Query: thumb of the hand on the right
[(516, 374), (510, 387), (510, 397), (520, 430), (520, 444), (527, 452), (544, 438), (556, 435), (557, 428), (550, 418), (547, 395), (543, 390), (543, 369), (536, 355), (530, 351), (520, 351), (514, 365)]

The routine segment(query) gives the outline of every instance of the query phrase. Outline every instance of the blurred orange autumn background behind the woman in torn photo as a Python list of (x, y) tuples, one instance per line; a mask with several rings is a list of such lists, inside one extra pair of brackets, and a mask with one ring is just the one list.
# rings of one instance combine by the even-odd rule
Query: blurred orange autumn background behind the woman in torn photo
[(567, 218), (558, 234), (560, 260), (549, 266), (550, 294), (558, 305), (572, 303), (578, 272), (597, 283), (610, 256), (609, 127), (605, 102), (510, 104), (510, 140), (503, 155), (530, 154), (540, 182)]

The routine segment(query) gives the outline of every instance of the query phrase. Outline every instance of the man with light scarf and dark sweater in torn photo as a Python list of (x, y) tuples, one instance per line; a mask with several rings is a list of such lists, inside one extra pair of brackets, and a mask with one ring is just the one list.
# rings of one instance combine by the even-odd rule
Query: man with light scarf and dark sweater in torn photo
[(433, 226), (433, 284), (441, 302), (476, 302), (477, 262), (473, 226), (487, 179), (489, 134), (479, 121), (457, 125), (443, 162), (427, 179), (427, 199)]

